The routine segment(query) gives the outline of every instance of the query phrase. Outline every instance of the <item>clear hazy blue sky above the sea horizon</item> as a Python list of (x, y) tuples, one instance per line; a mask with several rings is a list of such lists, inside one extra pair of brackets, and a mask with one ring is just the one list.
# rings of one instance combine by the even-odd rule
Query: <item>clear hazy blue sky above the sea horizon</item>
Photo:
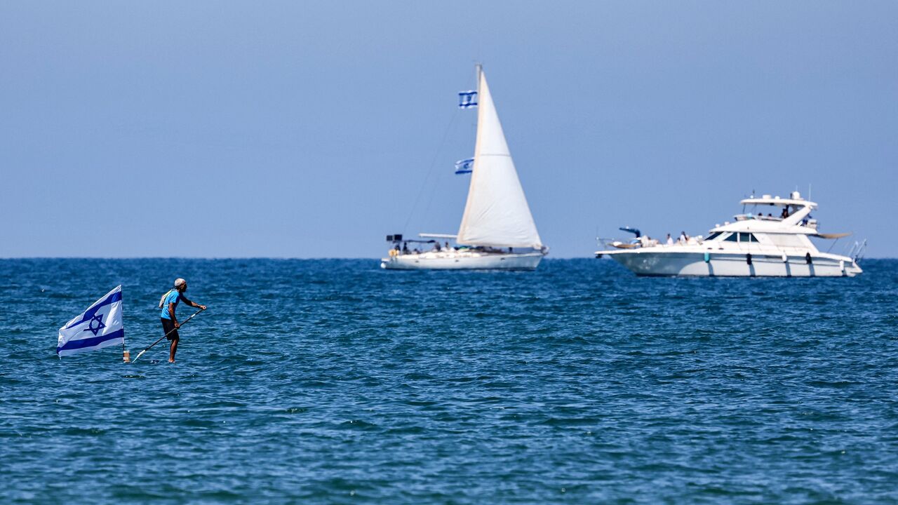
[[(754, 190), (898, 257), (896, 2), (0, 1), (0, 257), (454, 234), (484, 66), (550, 257)], [(822, 244), (825, 250), (829, 244)]]

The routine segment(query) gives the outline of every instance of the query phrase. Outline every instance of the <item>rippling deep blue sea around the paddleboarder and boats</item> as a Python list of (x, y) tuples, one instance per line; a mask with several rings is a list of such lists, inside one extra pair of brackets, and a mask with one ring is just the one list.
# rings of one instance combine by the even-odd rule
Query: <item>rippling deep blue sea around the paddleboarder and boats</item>
[[(3, 260), (0, 502), (898, 502), (898, 261), (862, 267)], [(136, 356), (176, 277), (176, 363), (57, 358), (119, 284)]]

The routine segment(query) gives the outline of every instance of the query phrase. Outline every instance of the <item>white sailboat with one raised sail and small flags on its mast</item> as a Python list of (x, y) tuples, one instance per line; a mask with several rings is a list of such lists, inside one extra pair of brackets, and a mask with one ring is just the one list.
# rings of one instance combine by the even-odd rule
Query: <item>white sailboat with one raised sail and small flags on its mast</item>
[[(478, 113), (471, 185), (458, 234), (419, 234), (420, 240), (387, 235), (392, 249), (381, 260), (383, 269), (535, 270), (549, 252), (536, 231), (482, 66), (476, 74), (476, 93), (460, 93), (460, 106), (476, 106)], [(440, 239), (455, 244), (441, 247)], [(420, 251), (421, 244), (430, 250)]]

